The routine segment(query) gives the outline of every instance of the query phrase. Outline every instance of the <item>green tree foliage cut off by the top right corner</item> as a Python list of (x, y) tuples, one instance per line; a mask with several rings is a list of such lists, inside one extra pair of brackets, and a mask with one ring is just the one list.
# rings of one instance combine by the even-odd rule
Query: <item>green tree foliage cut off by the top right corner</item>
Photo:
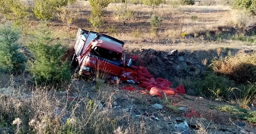
[(234, 8), (246, 9), (252, 14), (256, 14), (256, 0), (235, 0)]

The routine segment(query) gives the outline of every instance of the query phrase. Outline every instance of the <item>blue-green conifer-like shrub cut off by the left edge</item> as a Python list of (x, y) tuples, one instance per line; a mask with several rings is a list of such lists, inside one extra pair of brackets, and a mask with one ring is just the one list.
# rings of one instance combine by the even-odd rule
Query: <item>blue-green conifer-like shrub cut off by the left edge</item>
[(20, 53), (20, 30), (12, 24), (0, 25), (0, 71), (22, 71), (25, 57)]

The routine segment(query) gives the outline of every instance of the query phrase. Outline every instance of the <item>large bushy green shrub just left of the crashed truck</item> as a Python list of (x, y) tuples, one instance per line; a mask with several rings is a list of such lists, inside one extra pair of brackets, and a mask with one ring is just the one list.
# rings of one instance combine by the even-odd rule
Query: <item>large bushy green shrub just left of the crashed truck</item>
[(58, 83), (71, 79), (70, 64), (62, 59), (66, 47), (53, 38), (52, 32), (46, 29), (46, 24), (35, 32), (27, 47), (34, 57), (29, 62), (29, 71), (36, 82)]

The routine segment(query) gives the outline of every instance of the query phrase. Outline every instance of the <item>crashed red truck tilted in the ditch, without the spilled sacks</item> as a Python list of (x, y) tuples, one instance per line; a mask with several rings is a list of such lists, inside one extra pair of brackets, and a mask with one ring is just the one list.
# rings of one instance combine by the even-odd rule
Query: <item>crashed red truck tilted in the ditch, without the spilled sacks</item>
[(125, 60), (124, 42), (114, 37), (79, 29), (74, 45), (72, 63), (77, 65), (75, 74), (95, 78), (96, 73), (105, 71), (105, 80), (116, 83), (134, 83), (141, 60), (129, 57)]

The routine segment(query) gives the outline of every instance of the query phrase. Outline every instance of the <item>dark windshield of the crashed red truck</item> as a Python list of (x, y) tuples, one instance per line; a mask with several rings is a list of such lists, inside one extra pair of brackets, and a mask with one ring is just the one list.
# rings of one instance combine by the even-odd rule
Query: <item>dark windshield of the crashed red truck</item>
[(90, 51), (91, 54), (97, 56), (97, 57), (101, 57), (104, 59), (108, 59), (108, 60), (118, 60), (120, 61), (120, 57), (121, 57), (121, 53), (117, 53), (108, 49), (104, 49), (102, 47), (94, 47), (92, 48), (92, 50)]

